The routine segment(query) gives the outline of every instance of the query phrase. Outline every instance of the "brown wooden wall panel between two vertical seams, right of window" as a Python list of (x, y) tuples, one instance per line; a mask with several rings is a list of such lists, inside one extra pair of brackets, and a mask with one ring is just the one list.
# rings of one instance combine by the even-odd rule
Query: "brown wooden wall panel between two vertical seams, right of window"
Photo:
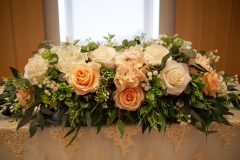
[(228, 45), (231, 29), (233, 0), (205, 0), (201, 49), (218, 49), (218, 71), (227, 71)]

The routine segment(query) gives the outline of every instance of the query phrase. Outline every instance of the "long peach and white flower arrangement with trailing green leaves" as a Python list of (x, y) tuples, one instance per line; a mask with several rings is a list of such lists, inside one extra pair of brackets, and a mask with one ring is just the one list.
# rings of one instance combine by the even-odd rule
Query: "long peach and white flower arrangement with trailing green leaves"
[(114, 36), (102, 44), (40, 43), (23, 75), (10, 67), (15, 78), (4, 78), (2, 114), (22, 118), (17, 129), (30, 123), (30, 137), (54, 114), (71, 127), (66, 136), (114, 122), (121, 136), (129, 122), (143, 133), (189, 123), (206, 135), (213, 121), (230, 125), (224, 115), (232, 115), (230, 104), (240, 109), (238, 76), (216, 72), (217, 51), (196, 51), (177, 35), (145, 41), (142, 34), (121, 44)]

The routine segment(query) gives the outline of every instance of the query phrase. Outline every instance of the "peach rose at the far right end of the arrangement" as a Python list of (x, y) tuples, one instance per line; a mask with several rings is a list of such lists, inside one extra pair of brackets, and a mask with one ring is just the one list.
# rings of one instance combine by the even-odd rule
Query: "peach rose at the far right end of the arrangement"
[(216, 93), (220, 89), (220, 76), (215, 71), (210, 70), (203, 74), (203, 82), (207, 84), (207, 86), (203, 88), (203, 92), (206, 95), (216, 97)]

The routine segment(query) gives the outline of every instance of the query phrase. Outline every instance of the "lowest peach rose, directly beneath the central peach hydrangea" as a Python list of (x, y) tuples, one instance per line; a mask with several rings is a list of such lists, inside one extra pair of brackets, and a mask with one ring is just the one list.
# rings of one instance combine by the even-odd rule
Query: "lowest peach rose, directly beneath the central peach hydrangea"
[(113, 100), (115, 106), (128, 111), (135, 111), (144, 101), (144, 93), (142, 87), (126, 88), (123, 91), (116, 90)]

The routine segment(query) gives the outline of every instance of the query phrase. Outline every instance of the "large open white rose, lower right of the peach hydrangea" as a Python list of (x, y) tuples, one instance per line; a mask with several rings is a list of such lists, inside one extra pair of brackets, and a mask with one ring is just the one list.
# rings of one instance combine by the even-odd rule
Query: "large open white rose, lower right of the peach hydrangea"
[(167, 87), (167, 93), (173, 95), (181, 94), (192, 80), (187, 64), (174, 60), (166, 62), (165, 68), (160, 71), (160, 78)]

